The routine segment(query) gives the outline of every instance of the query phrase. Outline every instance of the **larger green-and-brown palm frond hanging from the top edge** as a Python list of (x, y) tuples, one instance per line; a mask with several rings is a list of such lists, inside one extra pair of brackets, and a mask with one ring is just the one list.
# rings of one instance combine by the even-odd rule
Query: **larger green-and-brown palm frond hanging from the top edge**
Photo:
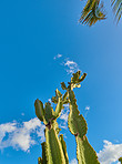
[(105, 19), (103, 3), (100, 4), (100, 0), (88, 0), (79, 21), (91, 27), (103, 19)]

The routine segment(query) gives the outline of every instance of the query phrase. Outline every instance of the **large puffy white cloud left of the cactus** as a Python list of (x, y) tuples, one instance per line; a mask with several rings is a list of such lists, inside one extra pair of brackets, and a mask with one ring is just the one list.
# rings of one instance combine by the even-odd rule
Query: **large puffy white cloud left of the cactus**
[(44, 140), (43, 130), (44, 125), (37, 117), (22, 123), (0, 124), (0, 150), (12, 146), (29, 152), (29, 148), (37, 143), (35, 135), (41, 141)]

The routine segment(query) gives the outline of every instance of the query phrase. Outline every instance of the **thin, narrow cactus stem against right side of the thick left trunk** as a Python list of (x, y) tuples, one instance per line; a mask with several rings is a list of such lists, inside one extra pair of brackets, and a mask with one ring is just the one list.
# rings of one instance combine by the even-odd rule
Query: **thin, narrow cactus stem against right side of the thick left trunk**
[(62, 144), (62, 150), (63, 150), (64, 157), (65, 157), (65, 164), (69, 164), (69, 157), (68, 157), (68, 153), (67, 153), (67, 144), (63, 140), (63, 134), (60, 135), (60, 142)]

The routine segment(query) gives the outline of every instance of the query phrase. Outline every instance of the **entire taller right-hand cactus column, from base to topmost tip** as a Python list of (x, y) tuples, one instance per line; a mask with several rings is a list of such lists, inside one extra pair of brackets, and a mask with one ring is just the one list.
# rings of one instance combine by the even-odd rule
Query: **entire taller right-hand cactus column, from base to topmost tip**
[(73, 92), (74, 88), (80, 88), (80, 82), (84, 80), (87, 74), (84, 73), (80, 78), (80, 71), (73, 74), (71, 78), (71, 82), (68, 86), (69, 92), (69, 104), (70, 104), (70, 113), (68, 117), (68, 126), (70, 132), (75, 136), (77, 141), (77, 158), (79, 164), (100, 164), (98, 161), (98, 156), (95, 151), (89, 144), (88, 139), (85, 136), (88, 126), (84, 117), (80, 115), (78, 110), (75, 95)]

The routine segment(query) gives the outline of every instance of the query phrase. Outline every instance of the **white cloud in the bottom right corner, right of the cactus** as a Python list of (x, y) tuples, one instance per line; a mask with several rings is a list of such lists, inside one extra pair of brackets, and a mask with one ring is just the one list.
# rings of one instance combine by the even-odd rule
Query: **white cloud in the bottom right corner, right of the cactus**
[(106, 140), (103, 141), (103, 150), (98, 153), (101, 164), (112, 164), (122, 156), (122, 144), (113, 144)]

